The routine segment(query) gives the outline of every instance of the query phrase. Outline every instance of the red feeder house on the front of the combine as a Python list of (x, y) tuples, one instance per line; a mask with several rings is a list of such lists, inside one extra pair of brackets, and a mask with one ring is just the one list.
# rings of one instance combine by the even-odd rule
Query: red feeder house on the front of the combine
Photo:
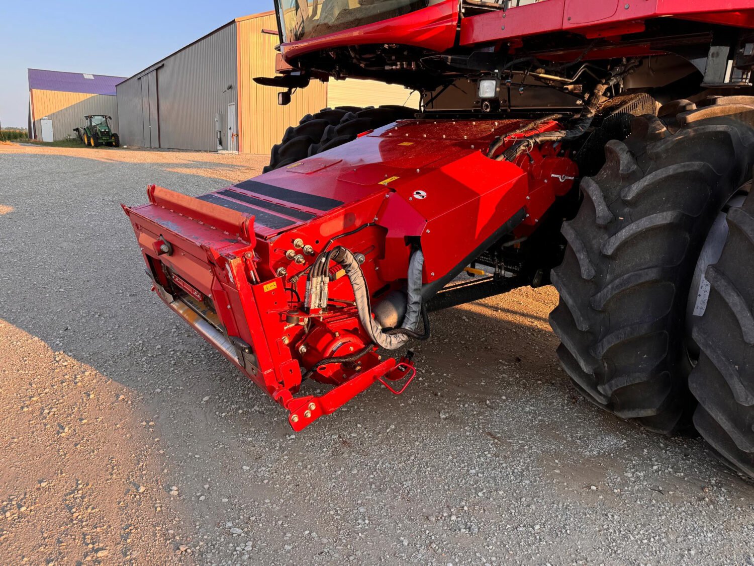
[[(572, 187), (576, 167), (551, 145), (519, 165), (477, 149), (520, 127), (401, 122), (199, 198), (152, 186), (125, 211), (161, 299), (302, 429), (377, 380), (410, 380), (410, 356), (377, 347), (428, 334), (432, 297), (468, 300), (437, 291)], [(296, 396), (303, 378), (333, 388)]]

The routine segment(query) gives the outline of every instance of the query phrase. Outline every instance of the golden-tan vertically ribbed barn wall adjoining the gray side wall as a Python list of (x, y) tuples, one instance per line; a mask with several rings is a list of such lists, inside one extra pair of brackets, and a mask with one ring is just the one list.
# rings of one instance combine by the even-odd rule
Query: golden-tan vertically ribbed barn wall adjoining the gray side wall
[(324, 83), (313, 81), (293, 94), (288, 106), (278, 106), (279, 89), (252, 81), (253, 77), (271, 77), (275, 73), (274, 46), (279, 39), (262, 33), (262, 29), (277, 29), (274, 14), (238, 20), (238, 122), (244, 153), (269, 153), (275, 143), (280, 143), (288, 126), (327, 106)]

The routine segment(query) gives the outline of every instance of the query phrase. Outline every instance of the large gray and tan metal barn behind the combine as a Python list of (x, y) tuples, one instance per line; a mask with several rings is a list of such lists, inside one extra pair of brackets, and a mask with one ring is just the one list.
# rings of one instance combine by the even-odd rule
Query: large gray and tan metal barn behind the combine
[[(312, 82), (288, 106), (256, 85), (275, 72), (274, 12), (240, 17), (118, 84), (127, 146), (267, 153), (285, 129), (325, 106), (403, 104), (409, 91), (366, 81)], [(366, 83), (366, 84), (365, 84)]]

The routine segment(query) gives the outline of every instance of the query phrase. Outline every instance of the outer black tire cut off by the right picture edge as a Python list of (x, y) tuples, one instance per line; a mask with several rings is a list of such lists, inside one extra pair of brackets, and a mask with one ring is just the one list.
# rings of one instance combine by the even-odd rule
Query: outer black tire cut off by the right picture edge
[(727, 213), (725, 247), (701, 287), (709, 296), (693, 330), (700, 357), (688, 384), (699, 401), (697, 430), (754, 478), (754, 194)]

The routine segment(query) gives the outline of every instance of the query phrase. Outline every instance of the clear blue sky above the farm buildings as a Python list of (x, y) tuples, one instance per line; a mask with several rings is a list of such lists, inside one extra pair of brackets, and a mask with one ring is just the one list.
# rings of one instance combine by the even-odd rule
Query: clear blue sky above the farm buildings
[(127, 77), (272, 8), (272, 0), (0, 0), (0, 123), (26, 127), (26, 69)]

